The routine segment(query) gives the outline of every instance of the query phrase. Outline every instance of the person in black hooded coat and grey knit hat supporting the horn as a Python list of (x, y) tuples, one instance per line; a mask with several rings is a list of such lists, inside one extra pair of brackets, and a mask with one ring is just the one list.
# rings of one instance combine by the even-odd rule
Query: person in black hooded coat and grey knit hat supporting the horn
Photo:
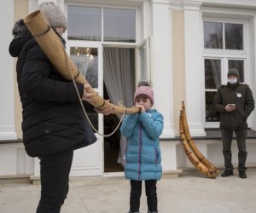
[[(65, 14), (54, 3), (42, 3), (39, 9), (61, 38), (67, 29)], [(22, 132), (26, 153), (40, 158), (41, 198), (37, 213), (59, 213), (67, 198), (68, 176), (73, 150), (96, 141), (84, 118), (79, 98), (87, 100), (88, 85), (67, 82), (56, 71), (37, 41), (18, 20), (9, 53), (18, 57), (17, 82), (22, 103)]]

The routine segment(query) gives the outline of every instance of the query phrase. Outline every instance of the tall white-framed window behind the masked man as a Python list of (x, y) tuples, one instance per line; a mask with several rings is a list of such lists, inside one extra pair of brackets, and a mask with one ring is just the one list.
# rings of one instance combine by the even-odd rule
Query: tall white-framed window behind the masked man
[[(227, 72), (236, 68), (244, 82), (245, 45), (244, 23), (205, 20), (204, 26), (204, 71), (206, 122), (214, 126), (219, 122), (219, 113), (212, 108), (218, 87), (227, 82)], [(217, 126), (217, 125), (216, 125)]]

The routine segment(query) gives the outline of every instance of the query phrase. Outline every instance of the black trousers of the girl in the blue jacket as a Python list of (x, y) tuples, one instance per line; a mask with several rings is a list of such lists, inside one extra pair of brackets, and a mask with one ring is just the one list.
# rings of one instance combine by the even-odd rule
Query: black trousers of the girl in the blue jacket
[[(130, 211), (138, 212), (142, 195), (142, 182), (131, 180)], [(148, 211), (157, 212), (156, 180), (145, 181)]]

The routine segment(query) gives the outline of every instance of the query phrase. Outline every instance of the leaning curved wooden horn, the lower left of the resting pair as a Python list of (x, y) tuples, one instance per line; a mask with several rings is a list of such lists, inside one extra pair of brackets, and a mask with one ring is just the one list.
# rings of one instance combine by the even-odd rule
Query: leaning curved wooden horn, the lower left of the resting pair
[(180, 134), (180, 140), (183, 145), (183, 149), (189, 158), (189, 161), (195, 166), (195, 168), (199, 171), (201, 171), (202, 174), (206, 175), (207, 177), (216, 178), (216, 174), (214, 170), (208, 168), (205, 164), (202, 164), (201, 161), (195, 156), (195, 153), (193, 153), (189, 147), (189, 143), (186, 140), (185, 134), (184, 134), (184, 126), (183, 126), (183, 112), (180, 112), (179, 117), (179, 134)]

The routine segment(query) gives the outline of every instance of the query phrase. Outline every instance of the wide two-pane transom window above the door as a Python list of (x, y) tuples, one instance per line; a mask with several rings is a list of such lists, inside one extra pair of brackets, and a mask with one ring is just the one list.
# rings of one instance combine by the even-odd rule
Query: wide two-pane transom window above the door
[(67, 22), (69, 40), (136, 42), (135, 9), (68, 5)]

